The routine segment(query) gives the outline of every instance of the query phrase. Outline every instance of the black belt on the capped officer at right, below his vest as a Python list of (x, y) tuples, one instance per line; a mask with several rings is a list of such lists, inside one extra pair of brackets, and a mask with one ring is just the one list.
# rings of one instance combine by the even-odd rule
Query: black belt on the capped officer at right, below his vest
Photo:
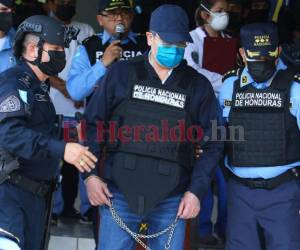
[(250, 187), (250, 188), (261, 188), (261, 189), (274, 189), (278, 187), (279, 185), (297, 179), (300, 177), (300, 170), (299, 167), (292, 168), (283, 174), (276, 176), (271, 179), (263, 179), (263, 178), (256, 178), (256, 179), (250, 179), (250, 178), (240, 178), (233, 173), (231, 173), (231, 178), (236, 180), (237, 182)]

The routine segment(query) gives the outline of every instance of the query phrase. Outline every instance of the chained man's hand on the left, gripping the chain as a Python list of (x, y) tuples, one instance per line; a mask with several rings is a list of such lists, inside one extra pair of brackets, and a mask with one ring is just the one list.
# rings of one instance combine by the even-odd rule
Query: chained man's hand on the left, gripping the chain
[(86, 181), (86, 189), (89, 201), (93, 206), (102, 206), (106, 204), (111, 206), (110, 199), (113, 195), (108, 190), (107, 184), (98, 176), (91, 176)]

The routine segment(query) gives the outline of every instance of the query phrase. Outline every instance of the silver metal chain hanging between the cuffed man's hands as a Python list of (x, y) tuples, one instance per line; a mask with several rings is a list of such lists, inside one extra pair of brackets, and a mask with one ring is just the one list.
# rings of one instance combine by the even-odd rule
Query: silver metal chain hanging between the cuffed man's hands
[(154, 239), (157, 238), (163, 234), (166, 234), (170, 231), (168, 241), (165, 244), (165, 250), (169, 250), (171, 248), (171, 241), (175, 232), (175, 228), (177, 225), (178, 217), (176, 216), (176, 219), (173, 221), (173, 223), (168, 226), (166, 229), (159, 231), (155, 234), (138, 234), (130, 230), (130, 228), (125, 224), (125, 222), (122, 220), (122, 218), (117, 214), (115, 208), (113, 207), (113, 203), (111, 202), (111, 207), (109, 208), (110, 213), (112, 215), (112, 218), (114, 221), (119, 225), (120, 228), (125, 230), (137, 243), (139, 243), (143, 248), (146, 250), (151, 250), (150, 247), (148, 247), (141, 239)]

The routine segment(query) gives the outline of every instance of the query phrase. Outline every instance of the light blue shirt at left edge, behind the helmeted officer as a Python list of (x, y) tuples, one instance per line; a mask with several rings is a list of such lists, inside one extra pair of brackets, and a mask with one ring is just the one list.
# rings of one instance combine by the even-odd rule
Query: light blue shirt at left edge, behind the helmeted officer
[(7, 35), (2, 49), (0, 49), (0, 73), (16, 64), (12, 54), (12, 43), (15, 36), (15, 30), (11, 29)]

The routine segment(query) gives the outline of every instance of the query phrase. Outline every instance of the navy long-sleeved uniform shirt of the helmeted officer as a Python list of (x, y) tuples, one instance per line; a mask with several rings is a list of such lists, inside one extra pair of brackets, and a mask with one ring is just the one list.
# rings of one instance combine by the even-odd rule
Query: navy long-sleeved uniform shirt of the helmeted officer
[(25, 62), (0, 74), (0, 145), (35, 180), (53, 178), (64, 155), (48, 90)]

